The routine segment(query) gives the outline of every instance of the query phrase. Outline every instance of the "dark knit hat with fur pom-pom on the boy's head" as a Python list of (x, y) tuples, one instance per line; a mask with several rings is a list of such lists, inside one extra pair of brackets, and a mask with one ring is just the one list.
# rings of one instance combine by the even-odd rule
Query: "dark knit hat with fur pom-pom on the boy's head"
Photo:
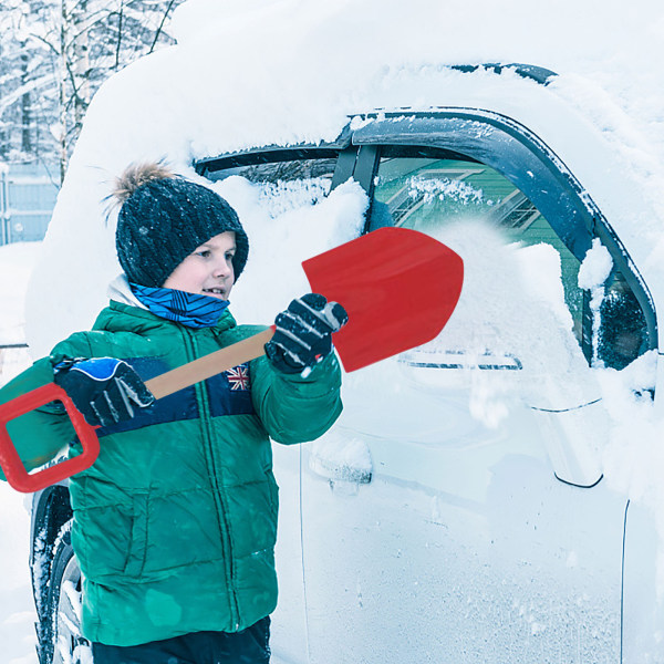
[(122, 204), (115, 247), (127, 279), (160, 288), (197, 247), (232, 231), (235, 279), (249, 255), (249, 240), (237, 212), (218, 194), (160, 164), (133, 164), (117, 178), (113, 197)]

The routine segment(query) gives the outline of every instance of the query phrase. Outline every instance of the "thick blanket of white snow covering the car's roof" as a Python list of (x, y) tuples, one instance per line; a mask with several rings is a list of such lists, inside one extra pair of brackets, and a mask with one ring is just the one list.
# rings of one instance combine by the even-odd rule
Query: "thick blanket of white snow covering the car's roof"
[[(563, 0), (535, 12), (527, 0), (509, 11), (489, 0), (189, 0), (174, 30), (178, 45), (110, 79), (90, 105), (29, 290), (35, 355), (89, 328), (106, 302), (120, 269), (103, 200), (128, 163), (166, 157), (197, 178), (196, 158), (333, 141), (349, 116), (374, 108), (473, 106), (521, 122), (588, 187), (649, 286), (664, 284), (658, 3), (609, 1), (600, 12)], [(543, 87), (444, 66), (481, 62), (560, 76)]]

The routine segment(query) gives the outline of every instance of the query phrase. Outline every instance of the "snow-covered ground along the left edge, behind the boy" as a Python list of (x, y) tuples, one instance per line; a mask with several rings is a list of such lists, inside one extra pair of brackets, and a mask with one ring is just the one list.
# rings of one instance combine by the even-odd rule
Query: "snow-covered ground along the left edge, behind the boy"
[[(0, 247), (0, 345), (23, 341), (23, 301), (41, 242)], [(30, 363), (24, 350), (0, 350), (0, 385)], [(22, 494), (0, 481), (0, 660), (35, 664), (37, 613), (30, 588), (30, 513)]]

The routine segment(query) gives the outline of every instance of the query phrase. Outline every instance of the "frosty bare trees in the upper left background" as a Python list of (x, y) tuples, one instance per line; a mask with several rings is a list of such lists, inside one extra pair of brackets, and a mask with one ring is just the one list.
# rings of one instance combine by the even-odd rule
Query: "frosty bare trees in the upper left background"
[(173, 43), (183, 0), (3, 0), (0, 156), (58, 164), (64, 177), (90, 101), (103, 81)]

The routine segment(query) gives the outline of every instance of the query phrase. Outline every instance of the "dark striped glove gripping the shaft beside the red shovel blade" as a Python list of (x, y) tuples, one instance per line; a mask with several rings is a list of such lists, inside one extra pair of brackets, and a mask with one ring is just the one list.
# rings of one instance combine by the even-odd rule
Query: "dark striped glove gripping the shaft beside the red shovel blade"
[(301, 373), (332, 352), (332, 332), (347, 321), (341, 304), (307, 293), (277, 315), (277, 331), (266, 344), (266, 355), (280, 372)]

